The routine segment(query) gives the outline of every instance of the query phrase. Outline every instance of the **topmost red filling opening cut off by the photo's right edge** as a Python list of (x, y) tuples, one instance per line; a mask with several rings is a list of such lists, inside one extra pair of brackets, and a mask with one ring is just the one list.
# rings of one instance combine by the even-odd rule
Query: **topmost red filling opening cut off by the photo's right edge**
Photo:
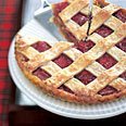
[(126, 12), (123, 10), (118, 10), (117, 12), (115, 12), (113, 14), (115, 17), (117, 17), (118, 20), (121, 20), (123, 23), (126, 22)]

